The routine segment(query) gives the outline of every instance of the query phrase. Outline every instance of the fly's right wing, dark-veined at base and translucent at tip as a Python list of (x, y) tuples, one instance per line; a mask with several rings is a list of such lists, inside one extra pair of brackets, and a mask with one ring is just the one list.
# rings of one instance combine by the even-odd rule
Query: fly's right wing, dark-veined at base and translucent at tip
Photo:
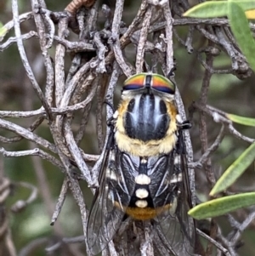
[[(179, 131), (179, 134), (182, 133)], [(191, 255), (194, 251), (195, 225), (188, 216), (190, 186), (183, 139), (166, 156), (161, 156), (150, 170), (150, 193), (157, 209), (156, 223), (161, 241), (170, 255)], [(161, 180), (161, 182), (160, 182)]]

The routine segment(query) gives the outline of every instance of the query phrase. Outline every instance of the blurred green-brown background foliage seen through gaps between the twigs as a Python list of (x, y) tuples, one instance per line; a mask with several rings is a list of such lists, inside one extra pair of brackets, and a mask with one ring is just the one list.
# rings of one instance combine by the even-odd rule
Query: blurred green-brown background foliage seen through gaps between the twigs
[[(182, 1), (178, 1), (181, 3)], [(186, 1), (183, 1), (185, 4)], [(63, 11), (67, 4), (66, 1), (46, 1), (47, 9), (51, 11)], [(114, 9), (114, 3), (106, 3)], [(190, 1), (190, 6), (196, 4), (196, 1)], [(139, 2), (126, 1), (123, 12), (122, 20), (127, 24), (133, 20), (137, 10), (139, 9)], [(28, 1), (19, 0), (20, 14), (31, 11), (31, 3)], [(0, 21), (6, 24), (9, 20), (12, 20), (11, 1), (3, 0), (0, 3)], [(175, 14), (174, 18), (182, 19)], [(173, 37), (173, 50), (174, 58), (177, 62), (177, 71), (175, 71), (175, 80), (178, 84), (178, 88), (186, 112), (189, 113), (188, 108), (193, 102), (201, 104), (201, 92), (203, 91), (203, 85), (205, 81), (205, 68), (202, 64), (207, 62), (210, 64), (210, 59), (213, 55), (213, 51), (216, 52), (213, 55), (214, 62), (213, 68), (217, 70), (230, 70), (231, 73), (214, 73), (209, 82), (209, 87), (206, 92), (206, 102), (203, 104), (212, 105), (213, 107), (224, 111), (226, 113), (233, 113), (245, 117), (255, 117), (254, 111), (254, 75), (252, 71), (243, 69), (241, 71), (240, 66), (235, 70), (233, 68), (233, 61), (235, 61), (235, 54), (229, 58), (229, 53), (224, 51), (224, 47), (218, 46), (213, 40), (209, 40), (205, 36), (205, 32), (209, 32), (211, 35), (218, 37), (218, 30), (221, 29), (220, 21), (212, 23), (213, 26), (206, 26), (201, 20), (195, 20), (194, 26), (189, 24), (185, 26), (174, 26)], [(224, 20), (224, 19), (222, 19)], [(99, 13), (98, 29), (102, 29), (105, 23), (105, 17), (102, 12)], [(210, 21), (207, 22), (210, 24)], [(216, 25), (216, 26), (215, 26)], [(27, 20), (21, 24), (22, 34), (25, 34), (31, 30), (36, 30), (35, 24), (32, 20)], [(226, 31), (225, 35), (227, 34)], [(192, 34), (192, 37), (189, 35)], [(8, 37), (14, 37), (14, 31), (8, 33)], [(186, 39), (190, 37), (191, 41)], [(77, 35), (71, 31), (71, 35), (68, 38), (70, 41), (77, 41)], [(5, 40), (6, 41), (6, 40)], [(229, 38), (226, 41), (230, 41)], [(183, 45), (186, 43), (186, 47)], [(230, 41), (230, 43), (233, 43)], [(31, 64), (32, 70), (35, 74), (37, 82), (42, 85), (42, 89), (45, 84), (46, 71), (43, 66), (42, 52), (37, 38), (31, 38), (24, 41), (26, 54)], [(54, 42), (52, 48), (49, 49), (50, 55), (54, 58), (56, 49), (56, 43)], [(235, 45), (235, 50), (239, 51), (239, 48)], [(211, 52), (210, 52), (211, 51)], [(35, 96), (31, 84), (26, 77), (24, 67), (20, 60), (20, 55), (17, 50), (16, 43), (13, 43), (6, 49), (0, 48), (0, 107), (1, 111), (32, 111), (37, 109), (41, 104), (38, 98)], [(231, 52), (231, 51), (230, 51)], [(208, 54), (208, 53), (211, 53)], [(133, 65), (135, 60), (135, 48), (133, 45), (129, 45), (126, 48), (126, 55), (129, 62)], [(209, 57), (208, 57), (209, 56)], [(210, 57), (211, 56), (211, 57)], [(239, 56), (240, 57), (240, 56)], [(73, 55), (65, 57), (65, 71), (69, 70)], [(150, 59), (150, 57), (148, 57)], [(209, 61), (209, 62), (208, 62)], [(239, 64), (246, 65), (245, 58), (238, 60)], [(150, 60), (148, 60), (150, 63)], [(233, 74), (234, 73), (234, 74)], [(239, 78), (241, 79), (239, 79)], [(120, 78), (119, 86), (115, 92), (115, 103), (117, 103), (121, 83), (125, 79), (124, 76)], [(86, 133), (82, 139), (80, 147), (88, 154), (99, 154), (99, 141), (96, 139), (96, 103), (92, 104), (92, 112), (88, 119), (88, 125), (86, 126)], [(190, 130), (190, 136), (192, 140), (194, 150), (194, 162), (198, 161), (204, 151), (207, 151), (207, 145), (212, 145), (214, 139), (218, 136), (221, 128), (220, 122), (214, 122), (212, 117), (201, 117), (204, 114), (197, 107), (194, 110), (190, 108), (190, 120), (192, 122), (192, 128)], [(2, 116), (0, 116), (2, 118)], [(79, 115), (77, 115), (73, 122), (72, 128), (77, 132), (79, 128)], [(35, 119), (30, 118), (6, 118), (10, 122), (19, 124), (22, 127), (27, 128), (31, 122)], [(103, 119), (104, 120), (104, 119)], [(206, 122), (206, 127), (203, 127), (203, 122)], [(103, 125), (105, 128), (105, 124)], [(254, 138), (254, 128), (235, 124), (236, 130), (246, 137)], [(203, 141), (201, 137), (202, 130), (206, 131), (206, 140)], [(0, 128), (1, 136), (12, 138), (17, 136), (16, 134), (8, 131), (7, 129)], [(48, 139), (50, 142), (54, 142), (49, 129), (48, 122), (45, 120), (37, 128), (36, 134)], [(35, 145), (28, 142), (26, 139), (21, 139), (15, 143), (6, 144), (3, 140), (0, 140), (0, 147), (4, 147), (6, 151), (26, 151), (29, 148), (35, 148)], [(229, 133), (228, 129), (225, 129), (225, 135), (223, 141), (219, 144), (218, 149), (214, 151), (207, 162), (204, 162), (202, 168), (195, 168), (195, 182), (196, 193), (201, 201), (209, 200), (209, 192), (212, 189), (213, 179), (218, 179), (224, 170), (235, 161), (235, 159), (241, 155), (243, 151), (248, 147), (248, 143), (243, 139), (236, 138), (233, 134)], [(58, 221), (52, 227), (50, 226), (52, 213), (54, 212), (54, 205), (58, 199), (59, 191), (65, 174), (59, 172), (59, 168), (55, 167), (48, 161), (44, 161), (37, 156), (23, 156), (23, 157), (4, 157), (1, 156), (1, 179), (6, 176), (11, 180), (11, 194), (7, 200), (1, 202), (1, 210), (4, 223), (8, 224), (9, 230), (5, 230), (10, 240), (14, 242), (14, 247), (19, 255), (45, 255), (45, 247), (50, 247), (59, 241), (59, 237), (71, 237), (82, 235), (82, 222), (80, 217), (80, 211), (71, 193), (67, 195), (65, 199), (64, 207), (59, 215)], [(210, 171), (208, 171), (210, 170)], [(208, 174), (213, 174), (212, 179), (208, 177)], [(20, 186), (18, 182), (26, 182), (34, 185), (38, 189), (37, 199), (22, 208), (19, 213), (13, 213), (11, 207), (14, 202), (18, 200), (26, 200), (30, 196), (30, 189), (24, 186)], [(2, 182), (3, 184), (3, 182)], [(85, 182), (80, 183), (82, 187), (83, 195), (90, 206), (92, 200), (92, 193), (88, 190)], [(246, 169), (246, 173), (238, 179), (234, 185), (230, 186), (228, 192), (246, 192), (254, 190), (254, 164)], [(240, 225), (233, 226), (230, 218), (235, 218), (238, 222), (242, 223), (250, 216), (249, 213), (253, 213), (254, 208), (241, 209), (233, 213), (230, 217), (223, 216), (217, 219), (213, 219), (214, 225), (219, 225), (222, 229), (224, 236), (234, 236), (231, 231), (235, 230)], [(5, 219), (6, 218), (6, 219)], [(228, 220), (228, 221), (226, 221)], [(232, 225), (232, 226), (231, 226)], [(251, 221), (250, 225), (244, 230), (240, 239), (235, 243), (236, 255), (252, 255), (254, 252), (254, 222)], [(211, 230), (212, 231), (212, 230)], [(215, 235), (215, 234), (214, 234)], [(227, 236), (229, 238), (229, 236)], [(2, 236), (1, 236), (2, 237)], [(4, 237), (4, 236), (3, 236)], [(215, 238), (215, 237), (214, 237)], [(229, 238), (230, 240), (230, 238)], [(223, 243), (222, 241), (219, 241)], [(6, 247), (2, 241), (0, 255), (7, 255)], [(226, 245), (224, 245), (227, 247)], [(31, 250), (31, 253), (27, 253), (26, 250)], [(63, 244), (57, 251), (50, 253), (49, 255), (84, 255), (85, 247), (82, 243), (75, 243), (71, 245)], [(214, 252), (214, 251), (213, 251)], [(23, 254), (22, 254), (23, 253)], [(14, 255), (11, 254), (10, 255)], [(213, 255), (207, 254), (207, 255)], [(232, 255), (232, 254), (231, 254)], [(233, 254), (234, 255), (234, 254)]]

